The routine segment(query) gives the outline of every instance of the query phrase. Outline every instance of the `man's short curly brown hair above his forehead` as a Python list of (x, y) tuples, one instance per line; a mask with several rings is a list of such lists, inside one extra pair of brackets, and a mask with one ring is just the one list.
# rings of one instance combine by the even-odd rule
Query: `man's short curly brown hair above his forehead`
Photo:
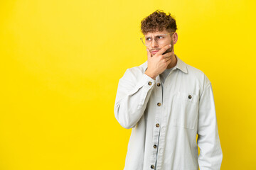
[(141, 22), (141, 31), (144, 35), (155, 31), (163, 31), (164, 29), (171, 33), (177, 30), (177, 25), (174, 16), (171, 16), (171, 13), (166, 15), (162, 10), (154, 11)]

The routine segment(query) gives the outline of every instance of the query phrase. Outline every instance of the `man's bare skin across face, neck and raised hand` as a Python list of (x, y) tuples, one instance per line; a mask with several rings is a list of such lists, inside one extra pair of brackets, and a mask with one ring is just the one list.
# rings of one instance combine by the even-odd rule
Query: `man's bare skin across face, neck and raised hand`
[[(166, 30), (156, 31), (154, 33), (146, 33), (146, 36), (153, 36), (158, 34), (166, 34), (169, 33)], [(154, 38), (153, 38), (154, 39)], [(174, 55), (174, 44), (176, 44), (178, 40), (178, 34), (175, 32), (172, 35), (169, 35), (161, 45), (158, 45), (155, 40), (152, 40), (151, 45), (146, 48), (147, 51), (147, 61), (148, 67), (146, 69), (145, 74), (151, 77), (152, 79), (156, 79), (156, 77), (164, 72), (166, 69), (171, 69), (176, 66), (177, 59)], [(152, 54), (152, 51), (159, 50), (156, 54)], [(166, 52), (164, 54), (164, 52)]]

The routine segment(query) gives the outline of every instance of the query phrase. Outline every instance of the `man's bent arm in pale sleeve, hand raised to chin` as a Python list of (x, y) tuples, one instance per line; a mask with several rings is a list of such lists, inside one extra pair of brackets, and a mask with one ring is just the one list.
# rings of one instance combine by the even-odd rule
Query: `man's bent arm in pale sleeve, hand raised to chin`
[[(139, 80), (132, 74), (132, 69), (127, 69), (124, 76), (119, 80), (117, 97), (114, 103), (114, 116), (124, 128), (134, 128), (146, 109), (149, 96), (156, 83), (155, 78), (164, 72), (171, 63), (171, 54), (174, 51), (162, 55), (171, 45), (166, 45), (151, 56), (149, 49), (147, 52), (147, 69)], [(149, 84), (149, 81), (151, 84)]]

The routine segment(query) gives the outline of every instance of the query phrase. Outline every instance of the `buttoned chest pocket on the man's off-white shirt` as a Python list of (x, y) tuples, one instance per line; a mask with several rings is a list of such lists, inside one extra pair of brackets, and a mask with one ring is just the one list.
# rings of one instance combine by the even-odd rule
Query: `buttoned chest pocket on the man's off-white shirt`
[(171, 124), (194, 129), (198, 118), (198, 102), (198, 95), (178, 91), (173, 98)]

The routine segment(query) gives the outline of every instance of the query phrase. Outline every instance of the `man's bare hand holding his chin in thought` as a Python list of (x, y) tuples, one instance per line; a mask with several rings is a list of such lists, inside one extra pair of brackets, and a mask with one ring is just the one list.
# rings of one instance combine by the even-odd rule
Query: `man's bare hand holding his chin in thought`
[(154, 56), (151, 57), (151, 52), (149, 49), (146, 49), (147, 51), (147, 57), (148, 57), (148, 67), (146, 69), (145, 74), (151, 77), (152, 79), (156, 79), (156, 77), (164, 72), (164, 70), (168, 67), (168, 65), (171, 63), (171, 55), (174, 54), (174, 51), (167, 52), (163, 55), (163, 53), (168, 50), (171, 47), (171, 45), (166, 45), (159, 50), (159, 52), (156, 52)]

